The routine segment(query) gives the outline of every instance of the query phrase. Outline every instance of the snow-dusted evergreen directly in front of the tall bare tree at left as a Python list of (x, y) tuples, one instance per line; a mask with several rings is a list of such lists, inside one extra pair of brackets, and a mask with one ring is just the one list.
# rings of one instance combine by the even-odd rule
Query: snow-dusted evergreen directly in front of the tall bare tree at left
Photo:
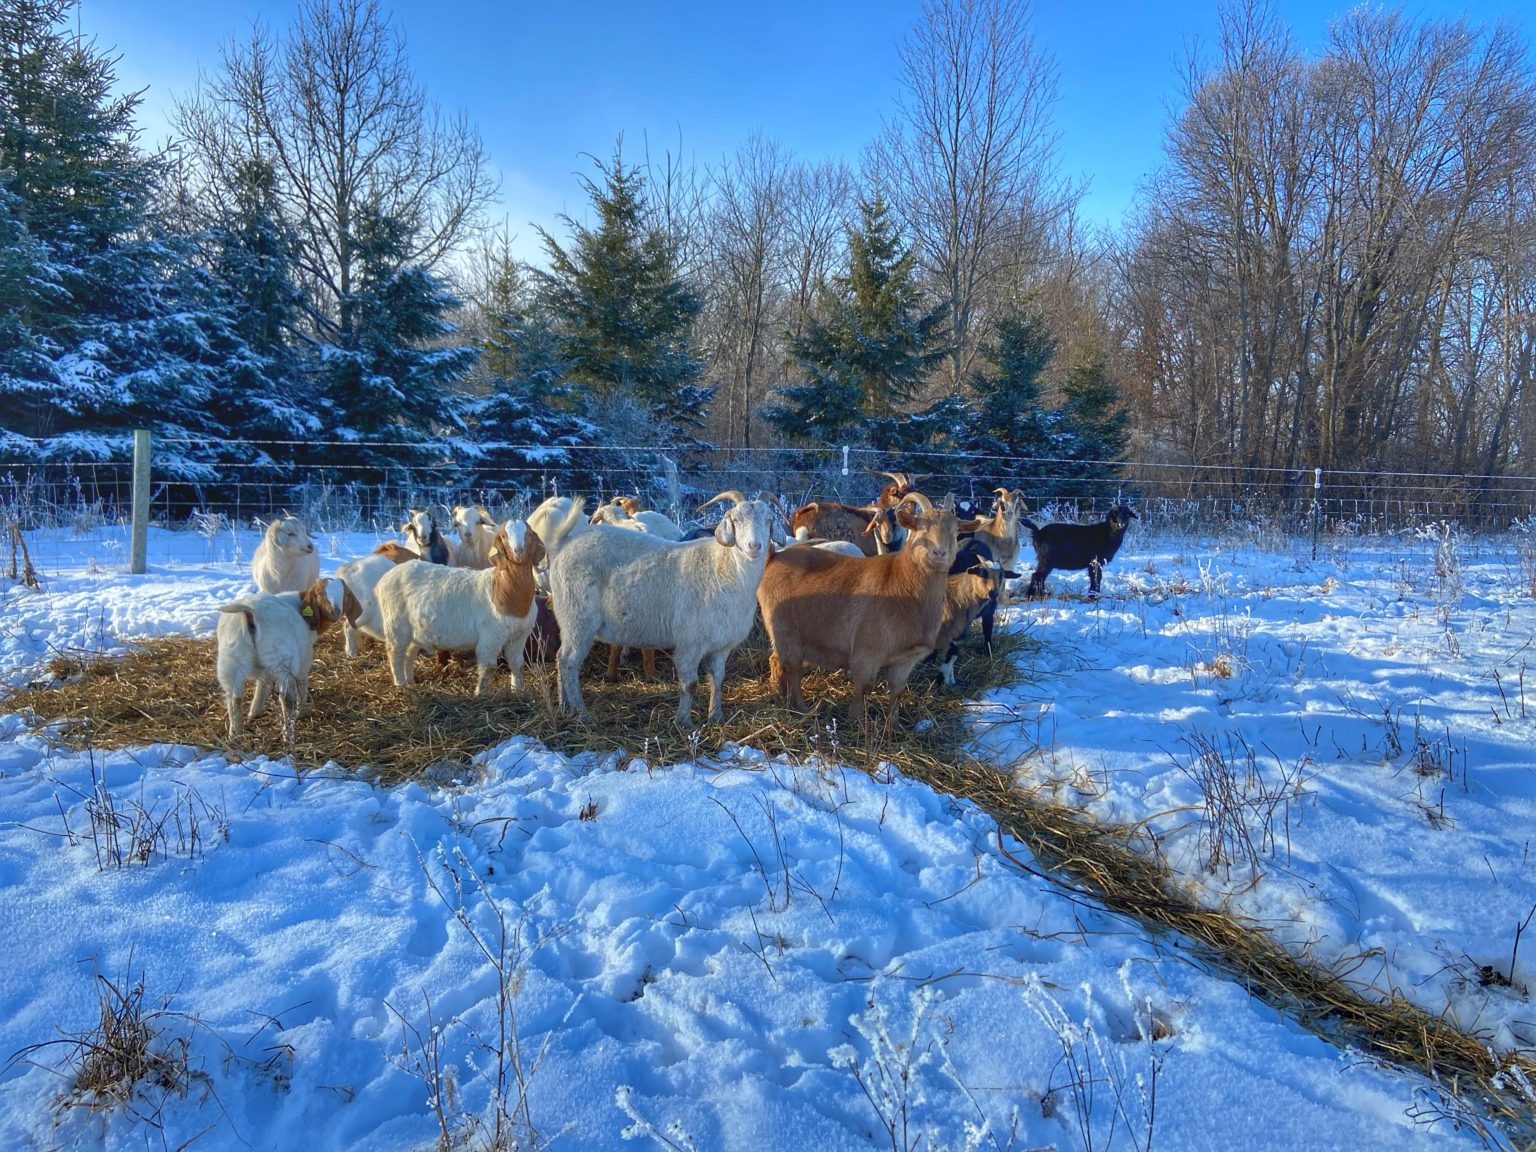
[(392, 449), (359, 449), (359, 462), (381, 468), (441, 456), (439, 438), (464, 427), (449, 386), (476, 355), (449, 339), (447, 316), (459, 301), (432, 272), (407, 263), (409, 244), (402, 221), (362, 214), (356, 290), (347, 301), (352, 333), (321, 349), (326, 438), (390, 441)]

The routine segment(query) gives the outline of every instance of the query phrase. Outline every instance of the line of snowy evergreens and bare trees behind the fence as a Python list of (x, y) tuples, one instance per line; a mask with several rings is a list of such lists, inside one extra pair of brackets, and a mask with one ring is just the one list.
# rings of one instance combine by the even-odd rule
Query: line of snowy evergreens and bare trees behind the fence
[(1028, 9), (929, 0), (857, 167), (619, 141), (527, 266), (485, 224), (473, 124), (373, 0), (230, 41), (158, 155), (74, 18), (0, 0), (9, 461), (152, 427), (189, 482), (344, 461), (507, 488), (648, 445), (842, 444), (1041, 496), (1126, 458), (1232, 485), (1528, 473), (1536, 98), (1510, 29), (1358, 9), (1304, 60), (1227, 9), (1141, 207), (1092, 233)]

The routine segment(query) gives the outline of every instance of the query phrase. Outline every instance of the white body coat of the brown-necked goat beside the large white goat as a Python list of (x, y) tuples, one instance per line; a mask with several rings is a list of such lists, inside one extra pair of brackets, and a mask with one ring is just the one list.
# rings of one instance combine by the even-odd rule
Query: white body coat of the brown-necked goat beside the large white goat
[(476, 696), (488, 690), (498, 656), (507, 657), (511, 687), (522, 688), (522, 650), (539, 619), (531, 573), (527, 614), (508, 616), (492, 604), (495, 568), (421, 562), (392, 568), (378, 579), (373, 594), (396, 687), (416, 682), (415, 662), (422, 651), (473, 651), (479, 665)]

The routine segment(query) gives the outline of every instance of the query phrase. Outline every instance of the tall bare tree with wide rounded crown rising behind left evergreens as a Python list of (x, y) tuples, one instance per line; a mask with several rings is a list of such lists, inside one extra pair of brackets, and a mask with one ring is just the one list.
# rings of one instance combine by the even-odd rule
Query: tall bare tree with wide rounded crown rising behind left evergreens
[(209, 203), (227, 203), (250, 161), (276, 172), (309, 319), (326, 339), (352, 332), (362, 210), (402, 221), (407, 258), (430, 269), (495, 194), (478, 132), (427, 100), (378, 0), (301, 0), (286, 37), (255, 26), (226, 46), (175, 121)]

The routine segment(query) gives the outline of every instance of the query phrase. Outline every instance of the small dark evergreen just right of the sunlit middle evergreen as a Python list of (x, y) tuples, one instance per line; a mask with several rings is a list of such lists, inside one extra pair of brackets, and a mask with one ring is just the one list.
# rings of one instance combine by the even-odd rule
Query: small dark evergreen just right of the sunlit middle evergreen
[(986, 367), (971, 376), (972, 415), (962, 445), (986, 488), (1017, 485), (1020, 470), (1006, 458), (1057, 455), (1060, 421), (1046, 412), (1040, 382), (1055, 347), (1044, 316), (1023, 312), (998, 321), (997, 339), (982, 349)]

